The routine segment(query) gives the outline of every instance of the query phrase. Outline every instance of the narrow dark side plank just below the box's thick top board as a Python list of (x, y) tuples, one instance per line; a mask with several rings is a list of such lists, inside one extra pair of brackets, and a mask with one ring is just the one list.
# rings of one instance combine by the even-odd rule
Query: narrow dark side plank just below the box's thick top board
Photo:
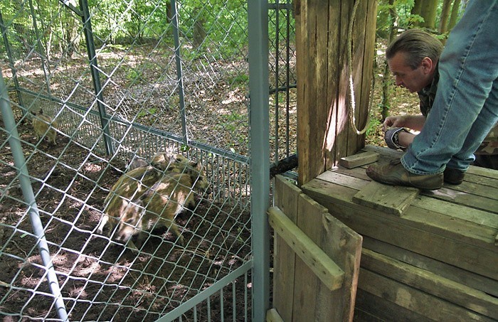
[(393, 259), (397, 259), (406, 264), (410, 264), (420, 269), (425, 269), (430, 272), (438, 272), (441, 277), (456, 281), (457, 283), (483, 291), (484, 293), (491, 294), (498, 297), (498, 280), (483, 277), (480, 274), (455, 267), (444, 262), (440, 262), (430, 257), (425, 257), (421, 254), (411, 252), (408, 249), (396, 247), (380, 240), (375, 240), (371, 237), (364, 237), (363, 247), (370, 249), (374, 252), (384, 254)]

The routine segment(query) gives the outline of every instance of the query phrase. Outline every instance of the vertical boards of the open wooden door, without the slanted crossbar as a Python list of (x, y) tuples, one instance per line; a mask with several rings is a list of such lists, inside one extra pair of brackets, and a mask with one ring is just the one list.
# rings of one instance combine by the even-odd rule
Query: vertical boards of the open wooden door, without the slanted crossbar
[[(279, 316), (283, 321), (352, 321), (361, 236), (282, 176), (275, 177), (275, 206), (282, 213), (295, 211), (289, 221), (295, 222), (307, 239), (322, 249), (323, 256), (344, 272), (342, 287), (331, 290), (310, 268), (317, 261), (310, 255), (301, 259), (292, 247), (284, 245), (285, 240), (275, 237), (273, 306)], [(295, 249), (301, 251), (299, 247)]]

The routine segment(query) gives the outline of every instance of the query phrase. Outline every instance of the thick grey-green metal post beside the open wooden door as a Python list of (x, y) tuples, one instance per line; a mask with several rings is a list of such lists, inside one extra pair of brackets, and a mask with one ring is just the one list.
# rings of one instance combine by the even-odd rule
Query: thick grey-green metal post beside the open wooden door
[(248, 1), (250, 178), (253, 242), (253, 321), (265, 321), (270, 292), (270, 113), (268, 109), (268, 3)]

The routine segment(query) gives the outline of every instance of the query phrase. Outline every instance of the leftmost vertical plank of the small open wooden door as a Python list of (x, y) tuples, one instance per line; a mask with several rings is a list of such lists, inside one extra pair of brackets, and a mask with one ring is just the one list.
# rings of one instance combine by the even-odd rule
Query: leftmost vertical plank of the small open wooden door
[[(297, 201), (300, 188), (290, 183), (283, 176), (275, 176), (275, 205), (292, 221), (297, 221)], [(273, 307), (284, 321), (292, 321), (292, 302), (294, 298), (294, 276), (296, 254), (282, 237), (274, 234), (273, 238)]]

